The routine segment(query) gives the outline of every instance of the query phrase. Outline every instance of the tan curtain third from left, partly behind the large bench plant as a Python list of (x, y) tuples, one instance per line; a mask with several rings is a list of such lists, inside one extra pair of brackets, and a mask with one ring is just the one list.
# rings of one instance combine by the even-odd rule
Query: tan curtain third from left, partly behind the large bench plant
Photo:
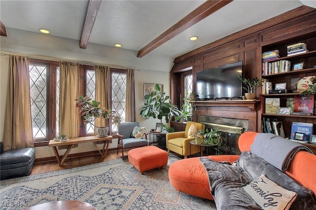
[[(110, 67), (96, 66), (95, 67), (95, 100), (101, 103), (100, 107), (111, 109), (111, 90), (110, 79), (111, 72)], [(109, 120), (97, 118), (95, 120), (97, 127), (104, 127), (109, 125)], [(94, 131), (96, 135), (96, 129)]]

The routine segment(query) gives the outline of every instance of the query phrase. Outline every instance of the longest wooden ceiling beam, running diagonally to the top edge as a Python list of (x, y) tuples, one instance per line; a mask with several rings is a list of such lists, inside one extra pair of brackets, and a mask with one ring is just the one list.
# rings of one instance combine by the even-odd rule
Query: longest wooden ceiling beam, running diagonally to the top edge
[(153, 41), (147, 44), (145, 47), (138, 51), (137, 57), (141, 58), (161, 44), (165, 43), (169, 39), (179, 35), (185, 30), (189, 29), (191, 26), (195, 25), (199, 21), (203, 20), (210, 14), (216, 12), (217, 10), (223, 8), (228, 3), (233, 0), (207, 0), (195, 10), (193, 10), (190, 14), (181, 19), (178, 23), (171, 26), (167, 31), (163, 32), (161, 35), (158, 35)]

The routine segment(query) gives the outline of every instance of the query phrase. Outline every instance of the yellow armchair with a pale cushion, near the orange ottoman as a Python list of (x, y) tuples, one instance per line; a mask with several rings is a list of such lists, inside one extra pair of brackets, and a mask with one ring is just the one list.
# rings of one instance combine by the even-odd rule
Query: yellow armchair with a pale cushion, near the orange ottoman
[[(187, 122), (186, 130), (180, 132), (173, 132), (166, 134), (166, 146), (168, 153), (170, 151), (176, 152), (180, 155), (183, 155), (184, 158), (187, 158), (190, 155), (190, 141), (194, 140), (194, 137), (188, 135), (191, 125), (194, 125), (197, 131), (205, 130), (205, 125), (197, 122)], [(199, 146), (191, 145), (191, 154), (202, 152), (204, 147), (200, 148)]]

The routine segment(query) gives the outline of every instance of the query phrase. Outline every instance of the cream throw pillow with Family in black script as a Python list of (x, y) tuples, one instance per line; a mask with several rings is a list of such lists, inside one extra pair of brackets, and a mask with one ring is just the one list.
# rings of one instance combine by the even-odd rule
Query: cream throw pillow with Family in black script
[(264, 210), (288, 210), (296, 199), (296, 192), (289, 191), (260, 175), (243, 189)]

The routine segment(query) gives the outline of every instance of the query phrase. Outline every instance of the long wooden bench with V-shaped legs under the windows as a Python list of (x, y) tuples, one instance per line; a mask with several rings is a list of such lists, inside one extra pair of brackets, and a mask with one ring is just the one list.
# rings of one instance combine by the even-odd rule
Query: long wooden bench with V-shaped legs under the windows
[[(79, 144), (79, 143), (87, 143), (87, 142), (92, 142), (93, 145), (95, 146), (95, 148), (97, 149), (97, 151), (101, 154), (101, 156), (103, 157), (103, 159), (105, 158), (108, 148), (109, 148), (109, 144), (112, 143), (112, 136), (107, 136), (107, 137), (96, 137), (96, 136), (89, 136), (89, 137), (79, 137), (79, 138), (73, 138), (73, 139), (69, 139), (68, 141), (62, 142), (62, 141), (54, 141), (54, 140), (50, 140), (48, 146), (53, 147), (56, 159), (57, 159), (57, 163), (59, 166), (63, 165), (63, 163), (65, 162), (67, 156), (70, 153), (70, 150), (73, 148), (73, 146), (75, 144)], [(103, 142), (103, 149), (102, 151), (98, 148), (96, 142), (97, 141), (102, 141)], [(65, 146), (68, 145), (68, 148), (65, 152), (65, 154), (63, 155), (62, 158), (60, 158), (58, 150), (57, 150), (57, 146)]]

